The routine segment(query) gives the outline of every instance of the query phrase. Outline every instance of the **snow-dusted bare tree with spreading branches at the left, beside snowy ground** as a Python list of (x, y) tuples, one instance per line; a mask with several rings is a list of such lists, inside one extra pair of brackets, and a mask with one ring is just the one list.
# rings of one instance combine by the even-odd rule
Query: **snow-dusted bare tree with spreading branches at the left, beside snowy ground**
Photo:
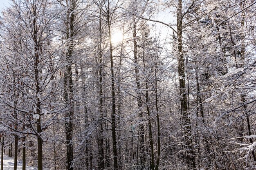
[[(51, 118), (47, 121), (42, 119), (49, 113), (47, 111), (49, 108), (56, 107), (56, 104), (51, 103), (53, 96), (50, 93), (52, 89), (48, 88), (49, 82), (52, 81), (51, 77), (59, 69), (57, 64), (52, 66), (54, 55), (58, 50), (53, 50), (49, 44), (52, 41), (54, 16), (56, 15), (50, 7), (51, 3), (45, 0), (13, 1), (13, 7), (4, 13), (6, 22), (3, 27), (6, 29), (6, 34), (2, 36), (9, 48), (5, 49), (7, 51), (2, 50), (4, 53), (1, 54), (1, 57), (9, 61), (7, 70), (13, 71), (13, 80), (15, 81), (11, 85), (12, 93), (19, 99), (11, 102), (3, 97), (2, 102), (13, 110), (14, 118), (17, 119), (18, 113), (20, 113), (23, 115), (22, 119), (25, 118), (25, 124), (28, 121), (30, 125), (29, 130), (22, 129), (22, 131), (17, 129), (18, 125), (14, 128), (8, 126), (8, 128), (21, 134), (37, 137), (38, 170), (43, 169), (42, 132), (52, 123)], [(8, 19), (7, 17), (10, 15), (17, 20)], [(10, 36), (8, 37), (8, 35)], [(18, 41), (11, 37), (13, 35), (13, 38)], [(17, 58), (20, 58), (22, 62), (16, 63)], [(18, 66), (18, 69), (15, 69), (15, 66)], [(9, 94), (3, 95), (8, 96)], [(28, 105), (24, 107), (22, 102)], [(57, 112), (55, 110), (51, 114)], [(15, 160), (17, 160), (17, 147), (18, 136), (15, 137)]]

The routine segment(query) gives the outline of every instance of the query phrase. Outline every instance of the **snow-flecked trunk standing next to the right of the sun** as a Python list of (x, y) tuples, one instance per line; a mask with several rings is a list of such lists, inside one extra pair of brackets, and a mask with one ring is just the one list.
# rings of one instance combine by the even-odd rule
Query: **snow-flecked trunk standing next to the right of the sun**
[(142, 111), (142, 101), (141, 101), (141, 84), (139, 79), (139, 63), (137, 56), (137, 28), (136, 22), (133, 21), (133, 56), (134, 56), (134, 64), (135, 64), (135, 79), (136, 79), (136, 88), (137, 88), (137, 106), (139, 109), (139, 119), (141, 119), (141, 123), (139, 124), (139, 159), (140, 159), (140, 169), (143, 170), (146, 166), (146, 153), (145, 153), (145, 132), (144, 132), (144, 124), (142, 123), (143, 119), (143, 111)]

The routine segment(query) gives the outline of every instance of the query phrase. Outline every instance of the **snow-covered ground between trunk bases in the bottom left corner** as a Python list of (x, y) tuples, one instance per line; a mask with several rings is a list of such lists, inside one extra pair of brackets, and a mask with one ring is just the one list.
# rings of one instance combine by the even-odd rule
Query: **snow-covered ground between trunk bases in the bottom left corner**
[[(0, 158), (1, 158), (1, 152), (0, 152)], [(0, 159), (1, 162), (1, 159)], [(4, 155), (4, 170), (13, 170), (14, 166), (14, 159), (13, 157), (10, 158), (6, 155)], [(17, 170), (22, 170), (22, 161), (18, 161)], [(36, 167), (26, 166), (26, 170), (37, 170)]]

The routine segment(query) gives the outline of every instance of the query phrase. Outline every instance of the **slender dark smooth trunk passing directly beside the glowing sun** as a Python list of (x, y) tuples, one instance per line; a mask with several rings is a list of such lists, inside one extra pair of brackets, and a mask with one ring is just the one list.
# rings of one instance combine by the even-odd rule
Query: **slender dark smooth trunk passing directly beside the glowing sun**
[(115, 74), (114, 74), (114, 62), (113, 62), (113, 46), (111, 42), (111, 18), (110, 9), (108, 6), (108, 37), (110, 44), (110, 68), (111, 68), (111, 91), (112, 91), (112, 119), (111, 119), (111, 132), (112, 132), (112, 145), (113, 145), (113, 170), (118, 170), (117, 161), (117, 137), (116, 137), (116, 96), (115, 96)]

